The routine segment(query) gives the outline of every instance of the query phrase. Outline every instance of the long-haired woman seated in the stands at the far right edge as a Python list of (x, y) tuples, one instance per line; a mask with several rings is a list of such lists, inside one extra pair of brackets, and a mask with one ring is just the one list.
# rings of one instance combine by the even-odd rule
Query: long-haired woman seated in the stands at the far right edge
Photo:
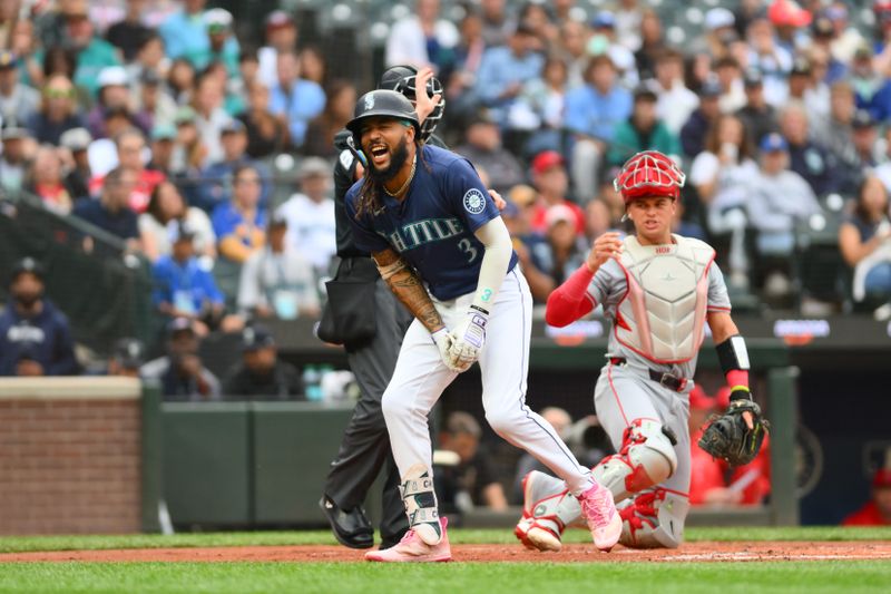
[(853, 269), (855, 301), (866, 296), (891, 301), (891, 221), (888, 191), (878, 177), (866, 177), (854, 211), (839, 227), (839, 249)]

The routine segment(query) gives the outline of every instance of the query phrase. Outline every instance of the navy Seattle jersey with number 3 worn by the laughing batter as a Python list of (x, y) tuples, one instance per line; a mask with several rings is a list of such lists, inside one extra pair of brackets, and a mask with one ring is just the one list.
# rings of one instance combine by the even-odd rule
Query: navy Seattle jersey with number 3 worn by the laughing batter
[[(360, 250), (393, 249), (434, 298), (449, 301), (476, 291), (486, 247), (473, 232), (500, 215), (469, 160), (433, 146), (422, 150), (401, 202), (383, 193), (383, 208), (356, 218), (360, 181), (346, 193), (346, 214)], [(505, 274), (516, 264), (515, 253)]]

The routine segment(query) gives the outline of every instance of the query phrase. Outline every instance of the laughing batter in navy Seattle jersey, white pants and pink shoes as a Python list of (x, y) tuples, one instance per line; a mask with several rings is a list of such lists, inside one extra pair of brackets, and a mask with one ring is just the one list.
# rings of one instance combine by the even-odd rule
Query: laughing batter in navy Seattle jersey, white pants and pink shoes
[(410, 529), (398, 545), (366, 558), (451, 558), (433, 491), (427, 417), (477, 361), (489, 425), (566, 483), (595, 545), (608, 551), (621, 532), (610, 490), (526, 406), (532, 300), (507, 227), (472, 165), (415, 142), (418, 116), (395, 91), (363, 95), (347, 128), (369, 162), (365, 179), (345, 199), (355, 243), (415, 317), (382, 399)]

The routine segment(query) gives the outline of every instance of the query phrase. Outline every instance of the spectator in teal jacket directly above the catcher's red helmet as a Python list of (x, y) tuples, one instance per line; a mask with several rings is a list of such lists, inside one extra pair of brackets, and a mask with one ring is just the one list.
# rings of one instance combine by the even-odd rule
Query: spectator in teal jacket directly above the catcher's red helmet
[(607, 163), (620, 167), (642, 150), (656, 149), (681, 158), (681, 140), (656, 115), (656, 92), (648, 86), (634, 92), (631, 116), (616, 126), (616, 134), (607, 153)]

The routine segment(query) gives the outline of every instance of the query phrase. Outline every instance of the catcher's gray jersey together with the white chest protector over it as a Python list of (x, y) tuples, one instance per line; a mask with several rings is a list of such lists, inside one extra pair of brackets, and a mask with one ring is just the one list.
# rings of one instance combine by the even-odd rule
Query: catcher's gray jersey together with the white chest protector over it
[(598, 269), (588, 296), (613, 324), (609, 357), (693, 378), (706, 315), (728, 313), (731, 302), (712, 246), (681, 235), (673, 240), (640, 245), (626, 237), (620, 259)]

